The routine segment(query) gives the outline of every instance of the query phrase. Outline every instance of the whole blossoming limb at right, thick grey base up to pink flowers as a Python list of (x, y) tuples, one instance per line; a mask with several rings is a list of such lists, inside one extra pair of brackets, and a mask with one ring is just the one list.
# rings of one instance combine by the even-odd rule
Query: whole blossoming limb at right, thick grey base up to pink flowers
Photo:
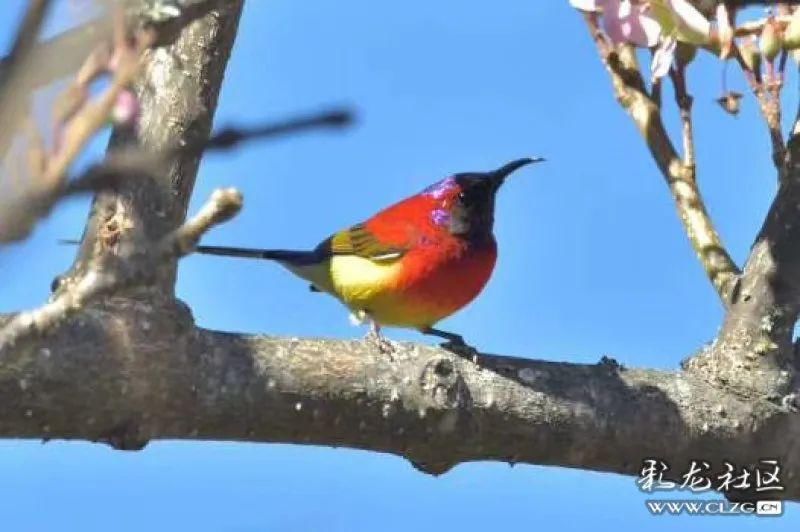
[[(800, 59), (800, 8), (778, 3), (766, 17), (737, 22), (732, 2), (571, 0), (580, 10), (611, 78), (614, 93), (638, 127), (675, 201), (684, 229), (726, 307), (712, 349), (685, 369), (715, 385), (751, 393), (791, 383), (792, 331), (800, 316), (800, 118), (788, 141), (781, 130), (781, 92), (790, 57)], [(652, 51), (649, 68), (637, 48)], [(741, 67), (772, 142), (779, 189), (741, 270), (722, 246), (697, 185), (692, 97), (687, 71), (698, 53)], [(647, 74), (645, 74), (645, 72)], [(667, 133), (660, 101), (663, 79), (674, 86), (682, 154)], [(648, 79), (649, 78), (649, 79)], [(738, 112), (742, 95), (725, 93), (723, 109)], [(755, 353), (755, 354), (754, 354)], [(783, 384), (780, 384), (783, 383)]]

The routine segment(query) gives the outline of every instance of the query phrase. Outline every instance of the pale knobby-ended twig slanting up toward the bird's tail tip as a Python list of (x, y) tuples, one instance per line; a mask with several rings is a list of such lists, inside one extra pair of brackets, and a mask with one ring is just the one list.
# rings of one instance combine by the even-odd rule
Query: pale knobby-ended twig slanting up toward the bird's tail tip
[(146, 283), (153, 278), (159, 264), (191, 253), (203, 234), (233, 218), (241, 208), (239, 191), (231, 188), (216, 190), (197, 215), (151, 248), (117, 259), (112, 267), (108, 264), (103, 267), (90, 265), (79, 279), (60, 287), (49, 302), (38, 309), (15, 315), (0, 329), (0, 352), (27, 336), (46, 333), (104, 294)]

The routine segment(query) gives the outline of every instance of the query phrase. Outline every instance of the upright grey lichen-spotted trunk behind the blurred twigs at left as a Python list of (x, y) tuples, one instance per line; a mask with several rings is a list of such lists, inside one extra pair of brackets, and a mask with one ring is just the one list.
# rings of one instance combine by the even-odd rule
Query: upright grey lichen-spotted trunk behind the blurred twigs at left
[[(142, 241), (162, 238), (186, 216), (242, 10), (242, 0), (213, 4), (218, 7), (182, 27), (171, 44), (149, 52), (136, 83), (142, 106), (138, 127), (115, 131), (110, 146), (156, 154), (174, 146), (198, 148), (180, 151), (156, 173), (143, 172), (98, 194), (68, 277), (79, 277), (86, 264), (103, 255), (124, 254)], [(160, 289), (173, 290), (175, 268), (174, 261), (160, 267)]]

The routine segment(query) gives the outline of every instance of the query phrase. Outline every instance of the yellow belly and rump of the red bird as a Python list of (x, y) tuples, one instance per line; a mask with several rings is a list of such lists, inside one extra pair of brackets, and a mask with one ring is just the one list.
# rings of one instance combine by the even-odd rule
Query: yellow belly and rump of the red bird
[(290, 266), (294, 273), (344, 303), (355, 315), (368, 315), (381, 325), (421, 329), (445, 317), (397, 284), (400, 261), (378, 262), (355, 255), (335, 255), (311, 266)]

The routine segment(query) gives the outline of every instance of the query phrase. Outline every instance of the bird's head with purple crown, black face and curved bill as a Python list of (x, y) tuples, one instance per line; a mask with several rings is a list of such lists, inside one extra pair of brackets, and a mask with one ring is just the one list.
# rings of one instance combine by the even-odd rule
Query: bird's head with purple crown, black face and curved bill
[(494, 225), (494, 198), (506, 178), (523, 166), (543, 160), (517, 159), (491, 172), (455, 174), (428, 187), (424, 193), (438, 200), (433, 222), (464, 238), (488, 237)]

